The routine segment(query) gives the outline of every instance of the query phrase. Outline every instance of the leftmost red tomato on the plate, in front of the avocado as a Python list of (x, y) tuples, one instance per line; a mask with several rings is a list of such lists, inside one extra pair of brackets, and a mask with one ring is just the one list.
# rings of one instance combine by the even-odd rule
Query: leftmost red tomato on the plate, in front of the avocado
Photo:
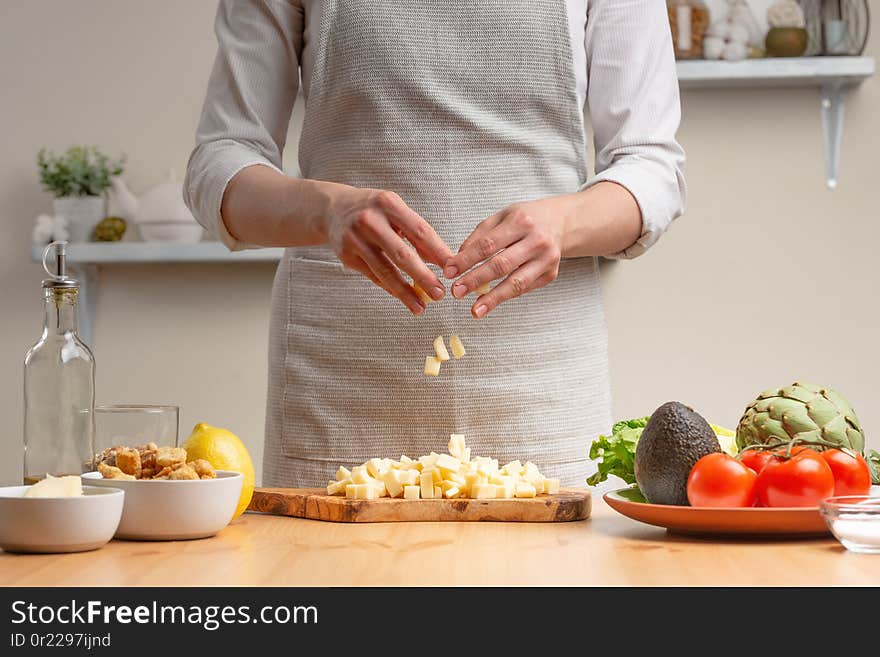
[(727, 454), (707, 454), (688, 475), (688, 502), (691, 506), (753, 506), (757, 478), (753, 470)]

